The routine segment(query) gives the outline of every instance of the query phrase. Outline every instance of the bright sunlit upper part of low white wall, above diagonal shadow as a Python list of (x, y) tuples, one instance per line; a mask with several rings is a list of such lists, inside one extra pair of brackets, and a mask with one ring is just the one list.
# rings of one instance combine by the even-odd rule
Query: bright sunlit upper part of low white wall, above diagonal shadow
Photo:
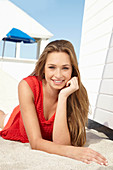
[(36, 60), (0, 58), (0, 68), (18, 82), (32, 73)]

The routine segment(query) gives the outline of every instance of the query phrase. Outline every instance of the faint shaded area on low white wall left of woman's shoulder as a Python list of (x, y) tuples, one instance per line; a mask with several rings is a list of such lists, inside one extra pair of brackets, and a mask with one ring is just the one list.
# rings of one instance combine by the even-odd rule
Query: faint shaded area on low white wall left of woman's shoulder
[(18, 105), (18, 81), (0, 69), (0, 109), (12, 112)]

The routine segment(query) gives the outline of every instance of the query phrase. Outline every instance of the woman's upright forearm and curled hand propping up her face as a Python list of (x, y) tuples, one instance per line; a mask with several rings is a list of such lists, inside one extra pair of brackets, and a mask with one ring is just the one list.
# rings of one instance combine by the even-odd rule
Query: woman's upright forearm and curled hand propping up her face
[(66, 86), (67, 87), (60, 91), (58, 96), (58, 104), (53, 126), (53, 141), (59, 144), (70, 145), (71, 138), (67, 124), (67, 98), (79, 88), (77, 77), (73, 77), (69, 80)]

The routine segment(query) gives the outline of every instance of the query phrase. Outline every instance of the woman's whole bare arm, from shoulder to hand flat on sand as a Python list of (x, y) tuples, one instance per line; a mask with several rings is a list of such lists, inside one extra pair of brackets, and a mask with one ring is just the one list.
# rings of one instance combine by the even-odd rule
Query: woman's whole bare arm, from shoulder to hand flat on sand
[(42, 139), (39, 121), (34, 105), (34, 96), (29, 85), (24, 80), (19, 83), (18, 93), (21, 114), (32, 149), (66, 156), (86, 163), (89, 163), (89, 161), (94, 161), (99, 164), (105, 164), (106, 159), (99, 153), (89, 148), (60, 145)]

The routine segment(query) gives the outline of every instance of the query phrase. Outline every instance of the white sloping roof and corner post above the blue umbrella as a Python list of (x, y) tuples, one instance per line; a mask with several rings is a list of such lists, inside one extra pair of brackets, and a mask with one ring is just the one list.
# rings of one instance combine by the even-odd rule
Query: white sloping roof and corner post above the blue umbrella
[(26, 14), (9, 0), (0, 0), (0, 40), (12, 29), (17, 28), (33, 37), (37, 41), (37, 58), (40, 49), (47, 44), (47, 40), (53, 36), (36, 20)]

